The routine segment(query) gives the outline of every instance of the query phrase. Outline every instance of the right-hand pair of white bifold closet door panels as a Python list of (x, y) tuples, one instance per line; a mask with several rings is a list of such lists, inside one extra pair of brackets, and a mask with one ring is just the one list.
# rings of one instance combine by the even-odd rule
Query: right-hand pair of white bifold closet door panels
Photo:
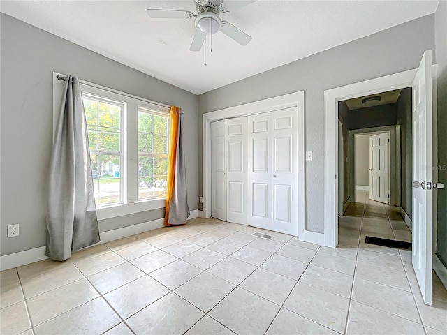
[(248, 117), (249, 225), (298, 234), (296, 107)]

